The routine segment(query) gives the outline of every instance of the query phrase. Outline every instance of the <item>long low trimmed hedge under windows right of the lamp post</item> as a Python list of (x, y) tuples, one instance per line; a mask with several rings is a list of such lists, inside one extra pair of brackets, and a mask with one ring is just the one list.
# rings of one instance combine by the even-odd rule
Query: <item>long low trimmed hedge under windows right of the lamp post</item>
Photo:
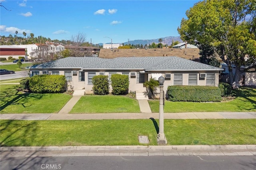
[(169, 100), (183, 102), (220, 102), (221, 92), (212, 86), (168, 86)]

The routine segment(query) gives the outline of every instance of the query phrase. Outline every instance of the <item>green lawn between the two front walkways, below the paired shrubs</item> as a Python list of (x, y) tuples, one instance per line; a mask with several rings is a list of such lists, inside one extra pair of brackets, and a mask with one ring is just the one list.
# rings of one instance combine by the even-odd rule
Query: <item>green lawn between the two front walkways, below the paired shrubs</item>
[(139, 113), (137, 100), (126, 96), (82, 96), (70, 113)]

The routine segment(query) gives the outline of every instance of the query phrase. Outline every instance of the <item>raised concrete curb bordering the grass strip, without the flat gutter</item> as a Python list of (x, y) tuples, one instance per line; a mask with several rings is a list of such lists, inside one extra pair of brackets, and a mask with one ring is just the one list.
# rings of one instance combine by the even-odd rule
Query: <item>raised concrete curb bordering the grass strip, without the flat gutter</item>
[(253, 150), (256, 145), (167, 145), (167, 146), (50, 146), (50, 147), (0, 147), (0, 151), (157, 151), (157, 150)]

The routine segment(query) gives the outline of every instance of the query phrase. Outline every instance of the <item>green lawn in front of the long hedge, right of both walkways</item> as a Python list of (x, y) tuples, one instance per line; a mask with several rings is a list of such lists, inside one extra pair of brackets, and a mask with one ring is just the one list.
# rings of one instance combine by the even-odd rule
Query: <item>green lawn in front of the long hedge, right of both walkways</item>
[[(256, 89), (242, 87), (234, 90), (236, 98), (224, 102), (170, 102), (165, 101), (164, 112), (248, 112), (256, 111)], [(152, 112), (159, 112), (159, 101), (148, 101)]]

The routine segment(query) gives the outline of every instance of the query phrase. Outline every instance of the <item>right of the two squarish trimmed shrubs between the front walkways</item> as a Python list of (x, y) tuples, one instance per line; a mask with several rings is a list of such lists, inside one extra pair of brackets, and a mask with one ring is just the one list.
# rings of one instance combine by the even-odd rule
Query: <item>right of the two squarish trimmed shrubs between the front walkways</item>
[(129, 76), (124, 74), (112, 74), (111, 76), (112, 94), (124, 95), (128, 93)]

